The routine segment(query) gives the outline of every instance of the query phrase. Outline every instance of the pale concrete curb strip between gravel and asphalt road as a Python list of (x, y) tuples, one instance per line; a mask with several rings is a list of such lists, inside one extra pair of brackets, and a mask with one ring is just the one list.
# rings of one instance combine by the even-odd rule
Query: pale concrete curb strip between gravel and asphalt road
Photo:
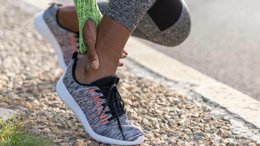
[(171, 81), (189, 84), (197, 94), (215, 102), (260, 128), (260, 102), (175, 60), (131, 37), (125, 49), (128, 58)]

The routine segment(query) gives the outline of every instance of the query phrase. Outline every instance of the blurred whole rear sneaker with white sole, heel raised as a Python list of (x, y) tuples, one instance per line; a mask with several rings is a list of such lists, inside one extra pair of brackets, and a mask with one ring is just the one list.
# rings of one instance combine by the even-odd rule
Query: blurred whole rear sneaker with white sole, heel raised
[[(72, 54), (78, 51), (79, 34), (71, 32), (57, 22), (58, 5), (53, 4), (35, 17), (35, 27), (42, 37), (54, 48), (61, 68), (66, 71)], [(80, 57), (80, 56), (79, 56)]]

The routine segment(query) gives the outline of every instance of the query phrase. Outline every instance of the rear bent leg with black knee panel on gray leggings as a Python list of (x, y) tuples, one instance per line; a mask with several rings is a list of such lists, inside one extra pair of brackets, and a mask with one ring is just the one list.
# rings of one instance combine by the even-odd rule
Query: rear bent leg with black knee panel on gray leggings
[[(107, 4), (108, 2), (98, 2), (102, 14)], [(69, 11), (70, 8), (64, 9)], [(74, 9), (71, 13), (76, 14), (75, 8), (71, 9)], [(64, 22), (78, 25), (75, 21)], [(132, 36), (172, 47), (183, 42), (189, 36), (190, 29), (189, 9), (183, 0), (157, 0), (140, 20)]]

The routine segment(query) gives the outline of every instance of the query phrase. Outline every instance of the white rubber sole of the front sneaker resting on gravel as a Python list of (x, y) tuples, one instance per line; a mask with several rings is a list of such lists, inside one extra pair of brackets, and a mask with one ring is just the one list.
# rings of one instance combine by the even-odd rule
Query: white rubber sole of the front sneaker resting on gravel
[(137, 140), (129, 142), (124, 140), (115, 140), (112, 138), (101, 136), (97, 133), (95, 133), (92, 128), (90, 127), (89, 123), (87, 122), (87, 118), (85, 117), (84, 112), (80, 107), (78, 106), (77, 102), (73, 99), (67, 88), (65, 87), (63, 83), (63, 76), (59, 79), (56, 91), (58, 96), (60, 96), (60, 99), (67, 105), (69, 108), (76, 114), (76, 116), (79, 118), (80, 122), (82, 123), (83, 127), (85, 127), (85, 130), (87, 133), (95, 139), (98, 142), (103, 142), (105, 144), (109, 145), (140, 145), (142, 142), (144, 142), (144, 136), (139, 136)]

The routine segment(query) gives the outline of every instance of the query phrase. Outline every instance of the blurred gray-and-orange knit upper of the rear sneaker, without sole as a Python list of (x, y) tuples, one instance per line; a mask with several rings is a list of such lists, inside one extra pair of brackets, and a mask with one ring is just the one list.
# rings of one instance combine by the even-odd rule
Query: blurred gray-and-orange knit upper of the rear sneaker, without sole
[(53, 4), (43, 13), (43, 19), (61, 46), (65, 63), (69, 65), (72, 54), (75, 51), (81, 55), (79, 51), (79, 35), (59, 25), (57, 22), (57, 12), (58, 6)]

